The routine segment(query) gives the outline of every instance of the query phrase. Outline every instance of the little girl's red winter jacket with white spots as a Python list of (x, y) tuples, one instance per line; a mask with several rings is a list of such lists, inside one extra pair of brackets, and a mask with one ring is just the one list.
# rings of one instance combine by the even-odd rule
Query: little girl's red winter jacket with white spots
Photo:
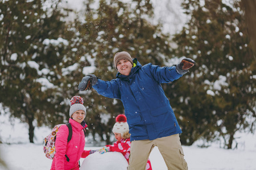
[[(127, 163), (129, 163), (129, 155), (131, 150), (131, 142), (130, 138), (128, 139), (121, 139), (120, 141), (115, 142), (113, 145), (106, 145), (106, 147), (110, 148), (110, 152), (121, 152)], [(152, 170), (150, 160), (147, 160), (146, 170)]]

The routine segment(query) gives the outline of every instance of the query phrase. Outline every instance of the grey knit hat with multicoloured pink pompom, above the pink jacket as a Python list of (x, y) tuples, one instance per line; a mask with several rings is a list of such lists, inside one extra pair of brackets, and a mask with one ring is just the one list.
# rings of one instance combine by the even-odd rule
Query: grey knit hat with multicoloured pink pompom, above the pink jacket
[(86, 116), (86, 108), (84, 107), (84, 100), (80, 96), (73, 96), (69, 101), (70, 109), (69, 116), (71, 117), (76, 111), (84, 111)]

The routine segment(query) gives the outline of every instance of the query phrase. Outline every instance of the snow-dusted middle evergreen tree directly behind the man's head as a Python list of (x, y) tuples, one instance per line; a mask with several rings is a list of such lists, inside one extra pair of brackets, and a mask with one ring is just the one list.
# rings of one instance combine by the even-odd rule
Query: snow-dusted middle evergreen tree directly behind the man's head
[[(93, 74), (101, 79), (114, 79), (117, 74), (113, 65), (114, 54), (122, 50), (138, 58), (142, 64), (152, 62), (163, 65), (166, 59), (163, 56), (170, 54), (168, 36), (161, 33), (160, 25), (148, 22), (147, 19), (153, 14), (150, 1), (100, 1), (96, 8), (93, 4), (93, 1), (86, 1), (84, 20), (79, 20), (79, 14), (69, 28), (77, 35), (71, 44), (76, 44), (76, 56), (81, 58), (79, 68), (84, 67), (83, 70), (76, 70), (77, 76), (74, 77), (77, 82), (82, 78), (79, 72), (92, 74), (86, 71), (92, 66), (95, 66)], [(121, 101), (107, 99), (94, 90), (81, 92), (80, 95), (88, 106), (86, 122), (89, 123), (89, 130), (93, 136), (99, 134), (102, 141), (109, 143), (114, 117), (124, 113)], [(105, 117), (109, 118), (107, 122)]]

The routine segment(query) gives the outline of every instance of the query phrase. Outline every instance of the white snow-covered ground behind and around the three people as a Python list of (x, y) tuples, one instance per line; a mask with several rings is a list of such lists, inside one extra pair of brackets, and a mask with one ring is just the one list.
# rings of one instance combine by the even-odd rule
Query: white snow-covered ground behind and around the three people
[[(9, 116), (0, 114), (0, 155), (5, 160), (10, 170), (46, 170), (50, 169), (52, 160), (47, 159), (43, 153), (42, 141), (49, 133), (48, 128), (35, 129), (35, 144), (28, 142), (28, 129), (26, 124), (22, 124), (18, 119), (13, 119), (11, 124)], [(238, 148), (236, 150), (225, 150), (220, 148), (218, 143), (213, 143), (208, 148), (193, 146), (183, 146), (185, 160), (187, 160), (190, 170), (256, 170), (256, 135), (237, 134)], [(87, 137), (86, 137), (86, 140)], [(199, 141), (200, 142), (200, 141)], [(199, 143), (197, 142), (197, 143)], [(14, 143), (14, 144), (5, 144)], [(85, 150), (96, 149), (100, 147), (86, 146)], [(95, 153), (97, 154), (97, 153)], [(91, 156), (91, 162), (100, 164), (95, 157)], [(102, 155), (101, 155), (102, 156)], [(112, 156), (105, 155), (106, 162), (112, 162)], [(154, 170), (167, 170), (162, 156), (157, 147), (151, 154), (150, 160)], [(84, 159), (80, 160), (80, 163)], [(102, 164), (102, 166), (104, 166)], [(0, 169), (5, 169), (1, 167)], [(90, 170), (90, 169), (86, 169)], [(97, 169), (93, 169), (97, 170)], [(101, 169), (102, 170), (102, 169)], [(111, 169), (120, 170), (120, 169)]]

